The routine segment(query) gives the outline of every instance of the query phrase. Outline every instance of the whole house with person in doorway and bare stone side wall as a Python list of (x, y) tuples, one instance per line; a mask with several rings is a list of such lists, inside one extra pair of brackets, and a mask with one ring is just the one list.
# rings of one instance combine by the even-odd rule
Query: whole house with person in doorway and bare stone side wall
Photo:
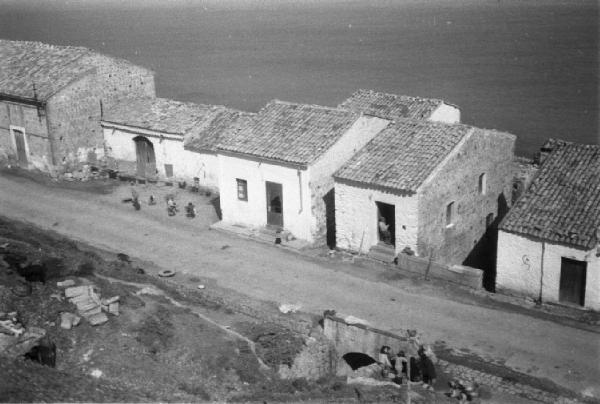
[(337, 246), (463, 263), (510, 200), (515, 139), (397, 119), (334, 174)]

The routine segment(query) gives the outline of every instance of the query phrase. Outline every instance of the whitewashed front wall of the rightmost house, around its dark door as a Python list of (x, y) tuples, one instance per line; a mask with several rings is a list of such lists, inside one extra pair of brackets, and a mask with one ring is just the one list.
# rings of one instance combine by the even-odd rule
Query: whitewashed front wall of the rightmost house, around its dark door
[[(546, 242), (542, 300), (559, 302), (562, 257), (588, 263), (584, 307), (600, 310), (600, 258), (596, 257), (596, 249), (583, 251)], [(499, 291), (538, 298), (541, 268), (541, 241), (504, 231), (498, 232), (496, 286)]]

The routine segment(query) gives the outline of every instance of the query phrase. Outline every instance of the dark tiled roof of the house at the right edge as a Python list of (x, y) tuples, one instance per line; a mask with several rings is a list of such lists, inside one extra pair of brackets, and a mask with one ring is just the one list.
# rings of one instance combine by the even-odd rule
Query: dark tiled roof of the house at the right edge
[(500, 229), (590, 249), (600, 228), (600, 146), (551, 140), (529, 189)]

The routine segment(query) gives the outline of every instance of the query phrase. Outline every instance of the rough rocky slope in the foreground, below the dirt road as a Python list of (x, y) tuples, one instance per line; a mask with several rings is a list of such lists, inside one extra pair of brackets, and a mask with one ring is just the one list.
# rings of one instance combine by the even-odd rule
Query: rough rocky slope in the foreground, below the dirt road
[[(108, 256), (51, 232), (0, 220), (0, 312), (17, 312), (21, 324), (45, 329), (56, 345), (55, 368), (22, 356), (3, 357), (0, 401), (405, 400), (405, 390), (350, 386), (334, 376), (280, 379), (276, 369), (290, 365), (302, 349), (306, 335), (299, 330), (311, 327), (310, 316), (287, 316), (285, 322), (296, 329), (260, 321), (237, 312), (234, 303), (146, 275), (127, 257)], [(41, 271), (34, 274), (32, 267)], [(119, 296), (119, 315), (98, 326), (82, 320), (61, 328), (61, 313), (76, 313), (57, 286), (66, 279), (94, 285), (103, 297)], [(413, 402), (436, 397), (414, 389)]]

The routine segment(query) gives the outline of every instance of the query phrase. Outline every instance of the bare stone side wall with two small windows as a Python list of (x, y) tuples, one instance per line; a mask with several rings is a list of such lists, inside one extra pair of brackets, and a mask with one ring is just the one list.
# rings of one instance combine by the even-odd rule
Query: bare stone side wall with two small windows
[[(460, 264), (486, 232), (486, 217), (503, 216), (510, 203), (515, 136), (475, 129), (433, 179), (419, 190), (418, 254)], [(478, 189), (486, 175), (485, 192)], [(453, 224), (446, 207), (454, 202)]]

